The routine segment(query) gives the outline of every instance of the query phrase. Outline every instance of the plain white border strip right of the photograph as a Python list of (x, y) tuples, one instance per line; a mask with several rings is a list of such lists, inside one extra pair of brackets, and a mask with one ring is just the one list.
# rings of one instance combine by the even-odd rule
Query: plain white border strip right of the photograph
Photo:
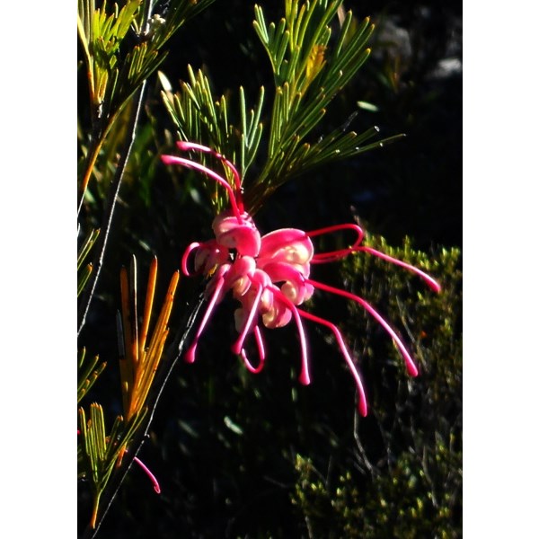
[(539, 498), (537, 8), (477, 4), (464, 3), (464, 537), (530, 537)]

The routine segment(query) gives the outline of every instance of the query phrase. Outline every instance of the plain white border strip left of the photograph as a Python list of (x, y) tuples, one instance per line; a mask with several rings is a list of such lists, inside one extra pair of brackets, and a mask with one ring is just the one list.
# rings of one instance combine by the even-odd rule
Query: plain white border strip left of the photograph
[(4, 7), (0, 536), (76, 536), (76, 3)]

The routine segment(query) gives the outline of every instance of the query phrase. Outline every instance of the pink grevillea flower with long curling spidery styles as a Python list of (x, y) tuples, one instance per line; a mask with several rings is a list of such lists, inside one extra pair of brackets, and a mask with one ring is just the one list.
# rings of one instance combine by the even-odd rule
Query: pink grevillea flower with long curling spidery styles
[[(186, 352), (186, 360), (193, 362), (200, 336), (206, 328), (211, 314), (227, 293), (231, 293), (239, 302), (234, 313), (235, 328), (239, 333), (232, 345), (232, 351), (243, 358), (243, 363), (252, 373), (259, 373), (264, 366), (266, 353), (262, 336), (262, 326), (276, 329), (287, 325), (292, 320), (296, 323), (301, 346), (301, 373), (299, 381), (310, 383), (307, 341), (303, 322), (310, 320), (327, 327), (333, 333), (352, 376), (358, 387), (358, 409), (361, 415), (367, 415), (367, 399), (361, 377), (339, 328), (328, 320), (300, 308), (314, 294), (314, 290), (323, 290), (337, 296), (344, 296), (357, 302), (371, 314), (384, 330), (389, 333), (400, 350), (407, 370), (411, 376), (418, 375), (410, 353), (392, 327), (377, 313), (376, 309), (363, 298), (346, 290), (325, 285), (311, 278), (311, 265), (338, 261), (352, 252), (368, 252), (384, 261), (392, 262), (411, 270), (423, 278), (429, 287), (440, 290), (437, 281), (417, 268), (362, 245), (363, 231), (355, 224), (334, 225), (304, 232), (297, 228), (281, 228), (261, 235), (252, 216), (243, 208), (242, 182), (234, 165), (212, 149), (189, 142), (178, 142), (181, 151), (198, 151), (215, 156), (225, 169), (232, 173), (234, 184), (230, 185), (222, 176), (208, 167), (175, 155), (162, 155), (163, 163), (179, 164), (183, 167), (205, 173), (215, 180), (228, 194), (230, 208), (221, 212), (213, 221), (215, 239), (205, 243), (191, 243), (181, 258), (181, 270), (187, 276), (192, 273), (209, 277), (206, 296), (208, 307), (195, 338)], [(347, 249), (331, 252), (314, 252), (312, 238), (322, 234), (331, 234), (350, 230), (356, 234), (356, 241)], [(194, 271), (190, 270), (190, 263)], [(244, 344), (252, 336), (259, 355), (258, 365), (253, 366), (245, 352)]]

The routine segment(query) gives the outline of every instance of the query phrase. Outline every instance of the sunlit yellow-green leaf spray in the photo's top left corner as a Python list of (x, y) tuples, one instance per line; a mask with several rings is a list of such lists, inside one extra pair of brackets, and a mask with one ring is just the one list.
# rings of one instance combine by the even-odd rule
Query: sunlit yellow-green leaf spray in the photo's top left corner
[[(153, 3), (149, 0), (128, 0), (121, 9), (114, 4), (113, 10), (106, 0), (100, 8), (94, 0), (79, 0), (77, 30), (84, 51), (92, 124), (90, 137), (81, 145), (85, 160), (81, 162), (79, 210), (102, 144), (120, 112), (163, 62), (166, 41), (213, 1), (176, 0), (163, 20), (150, 16)], [(131, 28), (136, 40), (124, 47)]]

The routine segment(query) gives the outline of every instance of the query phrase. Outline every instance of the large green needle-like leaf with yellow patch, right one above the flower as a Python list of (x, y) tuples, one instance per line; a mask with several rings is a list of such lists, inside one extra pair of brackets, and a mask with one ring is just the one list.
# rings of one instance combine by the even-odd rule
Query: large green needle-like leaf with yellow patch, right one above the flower
[(374, 26), (366, 19), (353, 24), (351, 12), (331, 45), (341, 0), (286, 1), (285, 18), (268, 24), (255, 6), (254, 29), (270, 57), (276, 93), (270, 124), (268, 161), (245, 203), (251, 212), (286, 181), (325, 163), (357, 155), (376, 146), (360, 144), (376, 134), (334, 132), (319, 142), (307, 137), (320, 123), (335, 96), (357, 74), (369, 56), (365, 49)]

